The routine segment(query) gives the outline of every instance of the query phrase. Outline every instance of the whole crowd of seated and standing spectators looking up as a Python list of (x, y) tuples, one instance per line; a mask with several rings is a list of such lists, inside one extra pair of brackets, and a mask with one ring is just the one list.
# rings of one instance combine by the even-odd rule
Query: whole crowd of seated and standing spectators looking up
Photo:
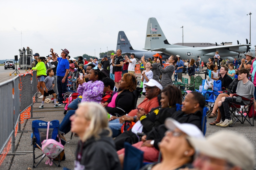
[[(228, 127), (233, 123), (229, 103), (247, 105), (256, 97), (256, 63), (251, 52), (241, 63), (236, 58), (230, 63), (217, 51), (205, 64), (200, 57), (188, 61), (179, 55), (164, 61), (161, 53), (137, 61), (134, 53), (122, 56), (121, 49), (101, 60), (79, 56), (73, 61), (67, 49), (61, 49), (60, 56), (52, 48), (50, 52), (47, 57), (33, 55), (32, 70), (37, 70), (38, 98), (42, 98), (39, 108), (44, 108), (49, 95), (54, 107), (66, 105), (59, 130), (79, 136), (74, 169), (122, 169), (127, 166), (125, 142), (143, 152), (147, 162), (143, 170), (254, 167), (254, 149), (242, 135), (222, 131), (205, 138), (205, 96), (192, 91), (183, 100), (173, 82), (182, 82), (184, 72), (190, 77), (206, 66), (210, 83), (221, 81), (227, 90), (216, 98), (208, 118), (217, 118), (209, 124)], [(79, 97), (67, 105), (63, 94), (68, 77), (74, 79)], [(137, 103), (141, 95), (145, 99)]]

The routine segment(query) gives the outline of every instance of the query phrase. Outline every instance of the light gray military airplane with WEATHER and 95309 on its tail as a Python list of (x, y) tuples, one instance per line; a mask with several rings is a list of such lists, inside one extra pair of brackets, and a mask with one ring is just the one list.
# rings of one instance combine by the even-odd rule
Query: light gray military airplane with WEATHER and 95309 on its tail
[(208, 62), (209, 58), (215, 55), (216, 51), (219, 51), (222, 59), (233, 59), (240, 53), (246, 53), (249, 51), (251, 44), (238, 44), (238, 45), (220, 45), (211, 47), (187, 47), (181, 45), (169, 44), (161, 27), (159, 26), (156, 18), (149, 18), (147, 23), (146, 50), (161, 51), (167, 55), (180, 55), (182, 59), (195, 60), (200, 57), (204, 62)]

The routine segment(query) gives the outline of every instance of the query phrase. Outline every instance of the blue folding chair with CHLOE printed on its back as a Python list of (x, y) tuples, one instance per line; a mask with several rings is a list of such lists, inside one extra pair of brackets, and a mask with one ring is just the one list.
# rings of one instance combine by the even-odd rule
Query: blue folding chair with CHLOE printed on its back
[[(41, 142), (46, 139), (47, 123), (48, 122), (41, 121), (41, 120), (32, 121), (33, 133), (31, 134), (31, 137), (32, 137), (32, 145), (33, 145), (33, 168), (36, 168), (46, 156), (44, 153), (42, 153), (41, 155), (39, 155), (35, 158), (35, 149), (39, 148), (40, 150), (42, 150)], [(59, 138), (58, 134), (59, 134), (59, 121), (53, 120), (50, 122), (48, 139), (54, 139), (54, 140), (57, 139), (59, 141), (60, 138)], [(36, 163), (35, 160), (40, 158), (41, 156), (42, 156), (41, 160), (39, 160), (39, 162), (35, 166), (35, 163)], [(58, 165), (54, 161), (52, 161), (52, 162), (57, 167), (60, 167), (60, 156), (58, 156)]]

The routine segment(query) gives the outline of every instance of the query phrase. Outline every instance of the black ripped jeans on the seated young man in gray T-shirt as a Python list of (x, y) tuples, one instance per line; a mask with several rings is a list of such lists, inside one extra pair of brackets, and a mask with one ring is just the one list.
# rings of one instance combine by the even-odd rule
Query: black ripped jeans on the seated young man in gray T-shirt
[(236, 99), (233, 97), (225, 97), (225, 100), (222, 102), (221, 106), (219, 107), (220, 114), (221, 114), (221, 120), (223, 122), (225, 121), (225, 119), (231, 120), (229, 106), (228, 106), (228, 103), (230, 103), (230, 102), (239, 104), (239, 105), (244, 105), (243, 102), (237, 102)]

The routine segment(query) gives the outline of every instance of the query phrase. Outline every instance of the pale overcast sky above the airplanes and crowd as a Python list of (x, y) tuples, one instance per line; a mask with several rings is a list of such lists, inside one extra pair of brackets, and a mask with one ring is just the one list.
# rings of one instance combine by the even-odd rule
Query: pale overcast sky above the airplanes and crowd
[[(147, 21), (155, 17), (170, 44), (250, 41), (255, 30), (255, 0), (248, 1), (0, 1), (0, 59), (13, 59), (29, 46), (40, 56), (67, 48), (71, 57), (116, 50), (119, 31), (133, 49), (145, 45)], [(22, 41), (21, 41), (22, 31)], [(256, 45), (251, 32), (251, 44)], [(21, 45), (22, 43), (22, 45)]]

